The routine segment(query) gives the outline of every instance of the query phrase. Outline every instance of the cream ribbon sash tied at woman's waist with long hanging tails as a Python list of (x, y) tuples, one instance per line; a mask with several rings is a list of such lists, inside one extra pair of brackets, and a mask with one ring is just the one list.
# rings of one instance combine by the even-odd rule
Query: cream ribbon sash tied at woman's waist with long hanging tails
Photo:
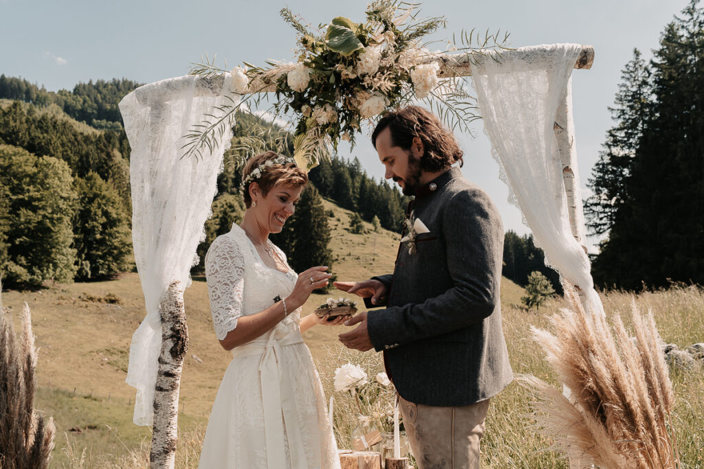
[[(300, 330), (284, 332), (274, 328), (265, 343), (256, 341), (232, 349), (233, 358), (263, 354), (259, 363), (264, 409), (267, 466), (270, 469), (287, 468), (284, 425), (291, 454), (291, 468), (308, 468), (306, 451), (301, 439), (301, 423), (296, 410), (294, 390), (288, 366), (284, 363), (283, 348), (302, 344)], [(278, 384), (278, 385), (277, 385)]]

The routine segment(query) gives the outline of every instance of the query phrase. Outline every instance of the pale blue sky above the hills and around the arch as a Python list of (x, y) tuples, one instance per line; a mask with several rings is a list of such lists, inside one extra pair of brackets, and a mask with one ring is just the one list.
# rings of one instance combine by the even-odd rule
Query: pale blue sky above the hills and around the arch
[[(89, 79), (126, 77), (148, 83), (185, 75), (203, 53), (218, 54), (235, 65), (242, 60), (291, 60), (294, 30), (279, 17), (288, 6), (311, 24), (343, 15), (362, 21), (367, 2), (334, 1), (32, 1), (0, 0), (0, 73), (21, 76), (56, 91)], [(445, 15), (446, 30), (434, 39), (449, 39), (463, 29), (510, 32), (513, 47), (573, 42), (591, 44), (591, 70), (572, 75), (577, 155), (582, 185), (591, 175), (605, 131), (620, 70), (634, 48), (650, 58), (660, 32), (686, 0), (597, 1), (426, 1), (422, 15)], [(441, 44), (437, 44), (441, 48)], [(505, 229), (529, 230), (518, 210), (508, 204), (498, 167), (479, 121), (476, 138), (460, 136), (465, 151), (463, 173), (494, 199)], [(364, 137), (350, 153), (367, 173), (383, 176), (382, 165)], [(586, 191), (586, 187), (584, 187)]]

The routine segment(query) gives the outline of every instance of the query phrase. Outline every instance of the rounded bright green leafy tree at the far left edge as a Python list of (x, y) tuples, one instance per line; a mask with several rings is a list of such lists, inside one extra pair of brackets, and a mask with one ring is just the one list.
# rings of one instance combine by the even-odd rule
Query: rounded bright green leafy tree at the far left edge
[(4, 219), (8, 285), (70, 282), (75, 274), (71, 219), (76, 193), (65, 162), (0, 146), (0, 186), (8, 195)]

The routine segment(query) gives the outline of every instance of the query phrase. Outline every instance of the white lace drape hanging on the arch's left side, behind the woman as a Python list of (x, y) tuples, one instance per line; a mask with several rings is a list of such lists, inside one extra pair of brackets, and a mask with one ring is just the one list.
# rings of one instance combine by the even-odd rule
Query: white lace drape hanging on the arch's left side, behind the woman
[(153, 423), (161, 349), (159, 303), (172, 281), (180, 281), (182, 288), (190, 285), (189, 270), (198, 262), (196, 248), (205, 238), (203, 225), (210, 217), (222, 153), (230, 146), (232, 131), (200, 160), (181, 158), (183, 136), (228, 99), (222, 83), (196, 76), (165, 79), (141, 86), (120, 101), (132, 147), (134, 259), (146, 300), (146, 317), (132, 335), (126, 380), (137, 388), (137, 425)]

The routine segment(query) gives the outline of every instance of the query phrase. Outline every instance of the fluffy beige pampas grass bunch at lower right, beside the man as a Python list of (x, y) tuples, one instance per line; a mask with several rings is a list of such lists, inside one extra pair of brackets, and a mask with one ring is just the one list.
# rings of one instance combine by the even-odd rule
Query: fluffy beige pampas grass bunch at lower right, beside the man
[(620, 316), (589, 314), (574, 288), (571, 306), (551, 317), (555, 333), (532, 328), (533, 337), (570, 397), (533, 375), (517, 375), (535, 398), (539, 431), (555, 441), (570, 467), (677, 468), (671, 431), (674, 393), (653, 315), (631, 302), (635, 337)]

